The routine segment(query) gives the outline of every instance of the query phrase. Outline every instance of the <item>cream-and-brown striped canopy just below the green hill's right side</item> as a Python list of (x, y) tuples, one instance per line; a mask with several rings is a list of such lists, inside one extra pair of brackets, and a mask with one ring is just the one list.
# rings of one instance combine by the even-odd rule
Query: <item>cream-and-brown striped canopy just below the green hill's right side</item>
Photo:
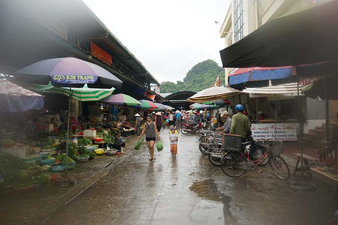
[(230, 88), (227, 86), (223, 87), (211, 87), (204, 89), (200, 92), (197, 92), (197, 94), (193, 95), (187, 101), (189, 102), (206, 102), (206, 101), (216, 101), (216, 100), (222, 100), (227, 99), (235, 95), (242, 94), (241, 91), (236, 90), (234, 88)]

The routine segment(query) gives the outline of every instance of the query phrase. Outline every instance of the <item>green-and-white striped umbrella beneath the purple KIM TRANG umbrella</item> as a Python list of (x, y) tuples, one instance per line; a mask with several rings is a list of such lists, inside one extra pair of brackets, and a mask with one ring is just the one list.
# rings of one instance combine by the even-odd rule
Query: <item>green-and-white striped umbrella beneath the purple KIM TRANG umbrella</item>
[(88, 88), (84, 84), (82, 88), (55, 87), (51, 82), (48, 85), (32, 84), (28, 87), (33, 91), (48, 91), (52, 93), (63, 94), (65, 96), (72, 94), (72, 98), (79, 101), (99, 101), (111, 96), (115, 88), (101, 89), (101, 88)]

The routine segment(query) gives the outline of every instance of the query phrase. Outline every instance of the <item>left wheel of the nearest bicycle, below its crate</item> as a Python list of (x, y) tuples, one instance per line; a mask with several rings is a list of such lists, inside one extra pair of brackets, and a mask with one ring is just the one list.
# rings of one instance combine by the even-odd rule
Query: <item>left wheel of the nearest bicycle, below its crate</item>
[(239, 177), (243, 175), (246, 170), (239, 165), (240, 162), (248, 162), (247, 157), (236, 151), (226, 152), (221, 159), (223, 173), (230, 177)]

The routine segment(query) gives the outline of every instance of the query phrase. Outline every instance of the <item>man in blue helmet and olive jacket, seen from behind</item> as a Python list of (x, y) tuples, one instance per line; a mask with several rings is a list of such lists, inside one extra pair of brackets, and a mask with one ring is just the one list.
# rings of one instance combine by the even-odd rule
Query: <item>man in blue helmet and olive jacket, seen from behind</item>
[(247, 133), (251, 129), (251, 125), (248, 117), (243, 114), (243, 105), (236, 105), (235, 110), (236, 114), (232, 116), (230, 134), (240, 135), (245, 142)]

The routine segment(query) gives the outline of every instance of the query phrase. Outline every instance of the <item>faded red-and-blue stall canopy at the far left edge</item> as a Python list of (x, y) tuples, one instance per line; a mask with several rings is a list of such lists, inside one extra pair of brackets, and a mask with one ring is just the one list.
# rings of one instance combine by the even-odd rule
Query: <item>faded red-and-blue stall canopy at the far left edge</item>
[(43, 96), (8, 80), (0, 79), (0, 112), (25, 112), (43, 109)]

